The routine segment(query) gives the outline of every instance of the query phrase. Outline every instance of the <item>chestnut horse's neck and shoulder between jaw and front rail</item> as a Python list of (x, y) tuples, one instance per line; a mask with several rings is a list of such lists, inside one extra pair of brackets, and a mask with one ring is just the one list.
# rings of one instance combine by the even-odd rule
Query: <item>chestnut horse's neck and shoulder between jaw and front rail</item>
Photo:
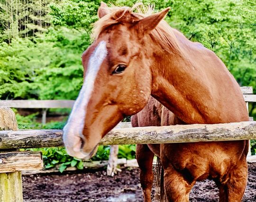
[[(189, 47), (184, 47), (184, 50)], [(210, 63), (213, 64), (205, 68), (209, 61), (197, 58), (203, 58), (200, 53), (209, 54), (210, 51), (193, 51), (183, 55), (166, 53), (162, 48), (155, 51), (151, 95), (185, 123), (247, 121), (248, 114), (239, 86), (223, 62), (210, 53)], [(190, 58), (190, 54), (195, 55)], [(233, 97), (222, 96), (228, 89), (234, 92)], [(225, 106), (227, 103), (230, 107)], [(237, 111), (230, 111), (232, 108)]]

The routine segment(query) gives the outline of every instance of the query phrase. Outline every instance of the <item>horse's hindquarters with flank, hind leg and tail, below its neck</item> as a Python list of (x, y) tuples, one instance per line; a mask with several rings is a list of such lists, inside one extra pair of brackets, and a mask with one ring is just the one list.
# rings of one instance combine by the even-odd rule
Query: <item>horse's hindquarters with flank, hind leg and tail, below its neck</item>
[[(161, 105), (155, 98), (150, 97), (146, 106), (137, 114), (131, 116), (132, 127), (145, 126), (167, 126), (183, 123), (175, 114), (169, 111), (164, 105)], [(156, 198), (160, 202), (165, 201), (163, 190), (163, 176), (160, 160), (160, 144), (138, 144), (136, 147), (136, 159), (140, 169), (140, 184), (143, 189), (146, 202), (151, 201), (151, 190), (154, 181), (152, 163), (154, 156), (157, 156), (156, 164)], [(158, 195), (160, 196), (158, 196)]]

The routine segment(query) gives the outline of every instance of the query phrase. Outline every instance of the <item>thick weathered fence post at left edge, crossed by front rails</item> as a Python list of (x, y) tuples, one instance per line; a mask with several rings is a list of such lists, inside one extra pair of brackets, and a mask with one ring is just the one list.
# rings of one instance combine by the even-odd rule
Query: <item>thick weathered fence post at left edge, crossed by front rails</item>
[[(15, 114), (9, 107), (0, 107), (2, 130), (18, 130)], [(23, 202), (21, 172), (0, 173), (0, 202)]]

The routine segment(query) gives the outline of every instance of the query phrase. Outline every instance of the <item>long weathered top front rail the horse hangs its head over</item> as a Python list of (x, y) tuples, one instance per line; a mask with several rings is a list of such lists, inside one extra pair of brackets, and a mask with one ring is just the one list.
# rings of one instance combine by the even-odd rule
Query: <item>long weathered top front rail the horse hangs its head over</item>
[[(0, 149), (63, 146), (61, 130), (0, 131)], [(101, 145), (255, 140), (256, 122), (113, 129)]]

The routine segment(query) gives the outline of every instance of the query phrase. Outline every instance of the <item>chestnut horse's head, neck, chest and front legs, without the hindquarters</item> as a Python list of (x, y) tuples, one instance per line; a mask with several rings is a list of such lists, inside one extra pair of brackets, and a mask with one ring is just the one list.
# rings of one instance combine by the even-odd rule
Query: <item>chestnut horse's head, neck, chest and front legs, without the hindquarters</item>
[[(94, 41), (82, 55), (82, 89), (64, 127), (68, 154), (90, 158), (102, 137), (141, 111), (150, 95), (187, 124), (249, 120), (224, 63), (171, 28), (163, 20), (168, 10), (144, 15), (101, 3)], [(241, 201), (247, 151), (248, 141), (162, 144), (168, 201), (188, 202), (193, 184), (205, 178), (218, 184), (221, 202)]]

